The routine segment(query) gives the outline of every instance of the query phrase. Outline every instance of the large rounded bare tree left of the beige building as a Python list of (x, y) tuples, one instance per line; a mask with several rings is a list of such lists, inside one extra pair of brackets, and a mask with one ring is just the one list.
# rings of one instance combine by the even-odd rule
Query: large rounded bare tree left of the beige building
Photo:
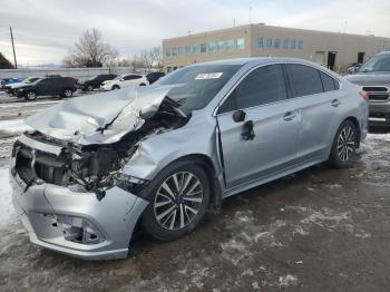
[(101, 67), (111, 64), (118, 51), (105, 42), (101, 32), (94, 28), (86, 30), (78, 42), (75, 42), (64, 64), (69, 67)]

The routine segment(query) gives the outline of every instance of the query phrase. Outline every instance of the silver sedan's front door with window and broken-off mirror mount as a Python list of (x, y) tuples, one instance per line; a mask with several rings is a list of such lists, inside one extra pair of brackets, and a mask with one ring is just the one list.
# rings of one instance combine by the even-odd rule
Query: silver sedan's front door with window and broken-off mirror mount
[(217, 123), (227, 188), (294, 163), (300, 123), (281, 65), (259, 67), (244, 77), (220, 107)]

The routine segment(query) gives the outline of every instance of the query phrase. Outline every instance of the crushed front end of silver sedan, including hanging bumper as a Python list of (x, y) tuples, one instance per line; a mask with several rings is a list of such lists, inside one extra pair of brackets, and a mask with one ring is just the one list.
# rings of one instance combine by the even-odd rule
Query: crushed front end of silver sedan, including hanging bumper
[[(148, 182), (124, 169), (139, 142), (186, 123), (166, 103), (157, 108), (113, 143), (82, 145), (39, 129), (18, 138), (11, 155), (12, 199), (32, 243), (86, 260), (128, 255), (134, 227), (148, 204), (140, 195)], [(120, 113), (96, 132), (109, 132)], [(123, 129), (125, 123), (123, 118), (113, 128)]]

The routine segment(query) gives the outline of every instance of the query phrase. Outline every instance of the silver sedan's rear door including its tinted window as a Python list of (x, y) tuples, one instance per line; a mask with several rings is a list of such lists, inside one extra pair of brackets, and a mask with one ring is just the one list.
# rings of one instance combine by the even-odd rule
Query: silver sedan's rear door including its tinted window
[(301, 163), (313, 160), (326, 154), (332, 121), (338, 115), (340, 100), (337, 97), (333, 78), (313, 67), (285, 65), (286, 72), (300, 111), (302, 126), (298, 146)]

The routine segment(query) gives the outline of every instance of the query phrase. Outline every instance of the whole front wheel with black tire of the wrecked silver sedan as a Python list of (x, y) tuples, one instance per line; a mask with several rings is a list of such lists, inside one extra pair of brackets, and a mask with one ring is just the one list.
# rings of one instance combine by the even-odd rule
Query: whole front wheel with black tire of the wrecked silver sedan
[(194, 231), (209, 204), (211, 185), (201, 166), (184, 165), (163, 171), (148, 195), (142, 215), (145, 231), (162, 241), (173, 241)]

